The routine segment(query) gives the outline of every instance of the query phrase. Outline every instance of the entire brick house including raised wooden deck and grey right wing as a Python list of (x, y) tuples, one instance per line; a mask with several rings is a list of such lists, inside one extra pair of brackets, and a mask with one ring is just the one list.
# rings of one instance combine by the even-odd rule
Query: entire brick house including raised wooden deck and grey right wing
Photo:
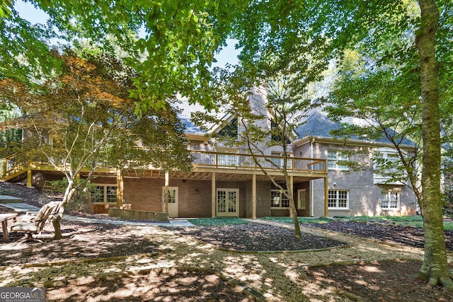
[[(190, 122), (190, 111), (194, 108), (187, 103), (183, 105), (185, 108), (180, 119), (186, 125), (193, 170), (164, 173), (152, 167), (146, 170), (98, 168), (92, 180), (96, 187), (91, 193), (91, 211), (105, 213), (109, 207), (165, 211), (164, 193), (168, 189), (170, 217), (237, 216), (255, 219), (288, 216), (289, 201), (273, 187), (251, 156), (240, 147), (224, 146), (200, 131)], [(231, 121), (234, 116), (225, 118)], [(328, 133), (335, 127), (338, 123), (331, 122), (323, 112), (316, 110), (298, 129), (299, 137), (294, 137), (287, 146), (292, 155), (287, 167), (293, 182), (297, 215), (415, 214), (415, 195), (402, 184), (384, 185), (384, 180), (373, 173), (371, 158), (368, 170), (352, 171), (337, 164), (341, 151), (382, 149), (383, 154), (391, 154), (393, 151), (389, 144), (354, 139), (339, 141)], [(222, 131), (219, 127), (212, 129)], [(408, 149), (411, 148), (413, 144), (408, 141)], [(281, 151), (275, 148), (265, 150), (265, 157), (273, 163), (283, 162), (280, 154)], [(285, 181), (275, 165), (265, 165), (265, 169), (277, 182)], [(38, 173), (46, 180), (61, 178), (50, 165), (11, 165), (11, 158), (4, 159), (4, 171), (4, 180), (27, 178), (30, 186)]]

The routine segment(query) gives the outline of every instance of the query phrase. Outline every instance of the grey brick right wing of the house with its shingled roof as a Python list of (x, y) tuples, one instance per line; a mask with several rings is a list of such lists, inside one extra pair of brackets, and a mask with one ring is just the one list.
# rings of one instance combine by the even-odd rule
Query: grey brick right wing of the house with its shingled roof
[[(334, 138), (331, 130), (339, 127), (340, 122), (329, 120), (326, 112), (314, 110), (306, 124), (297, 130), (299, 139), (294, 141), (294, 153), (299, 156), (327, 159), (329, 216), (415, 215), (417, 199), (413, 190), (402, 182), (389, 182), (374, 171), (373, 153), (376, 151), (383, 158), (399, 161), (389, 141)], [(406, 152), (413, 152), (415, 148), (408, 139), (401, 145)], [(361, 151), (360, 155), (355, 155), (354, 151)], [(350, 169), (342, 165), (342, 161), (360, 161), (362, 168)], [(318, 180), (312, 180), (310, 188), (310, 216), (320, 216), (324, 189)]]

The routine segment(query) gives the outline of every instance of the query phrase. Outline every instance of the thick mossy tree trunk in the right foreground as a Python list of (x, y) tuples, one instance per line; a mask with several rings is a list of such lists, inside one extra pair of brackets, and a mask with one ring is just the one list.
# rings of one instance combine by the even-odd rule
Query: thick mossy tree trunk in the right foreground
[(434, 0), (419, 0), (420, 28), (415, 37), (420, 60), (423, 129), (423, 223), (425, 257), (418, 274), (430, 286), (453, 289), (449, 278), (440, 195), (440, 108), (435, 57), (435, 32), (439, 10)]

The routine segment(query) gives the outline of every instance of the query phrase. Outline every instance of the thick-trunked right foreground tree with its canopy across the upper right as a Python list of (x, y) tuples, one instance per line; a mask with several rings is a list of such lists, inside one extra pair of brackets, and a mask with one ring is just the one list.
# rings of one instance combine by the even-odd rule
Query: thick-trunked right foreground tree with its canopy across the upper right
[[(442, 8), (442, 14), (437, 5)], [(277, 54), (292, 50), (300, 54), (300, 45), (305, 45), (300, 36), (308, 33), (314, 45), (323, 45), (317, 43), (321, 39), (328, 40), (325, 43), (328, 47), (319, 48), (324, 57), (341, 56), (346, 48), (365, 47), (372, 50), (369, 53), (373, 57), (382, 59), (381, 64), (386, 63), (389, 55), (398, 57), (398, 71), (403, 71), (405, 76), (413, 73), (412, 79), (420, 83), (423, 135), (425, 259), (420, 277), (429, 279), (431, 286), (440, 283), (453, 289), (448, 276), (441, 212), (439, 108), (439, 93), (451, 95), (451, 88), (442, 85), (451, 79), (452, 72), (447, 46), (453, 24), (450, 2), (277, 1), (269, 6), (263, 1), (252, 1), (246, 10), (236, 13), (236, 21), (239, 24), (234, 30), (238, 45), (243, 48), (244, 62), (259, 58), (262, 45), (268, 43), (274, 45)], [(403, 37), (409, 37), (406, 44), (400, 43)], [(442, 64), (437, 64), (437, 57)]]

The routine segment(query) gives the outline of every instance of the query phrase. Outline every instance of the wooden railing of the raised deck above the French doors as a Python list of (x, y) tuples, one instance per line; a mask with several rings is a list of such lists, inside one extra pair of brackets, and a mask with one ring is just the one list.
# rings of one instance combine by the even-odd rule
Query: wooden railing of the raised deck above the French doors
[[(242, 153), (190, 151), (190, 154), (193, 156), (195, 167), (256, 170), (261, 166), (265, 170), (281, 170), (285, 164), (282, 156), (255, 156), (255, 161), (252, 155)], [(326, 173), (326, 160), (289, 157), (286, 168), (294, 172)]]

